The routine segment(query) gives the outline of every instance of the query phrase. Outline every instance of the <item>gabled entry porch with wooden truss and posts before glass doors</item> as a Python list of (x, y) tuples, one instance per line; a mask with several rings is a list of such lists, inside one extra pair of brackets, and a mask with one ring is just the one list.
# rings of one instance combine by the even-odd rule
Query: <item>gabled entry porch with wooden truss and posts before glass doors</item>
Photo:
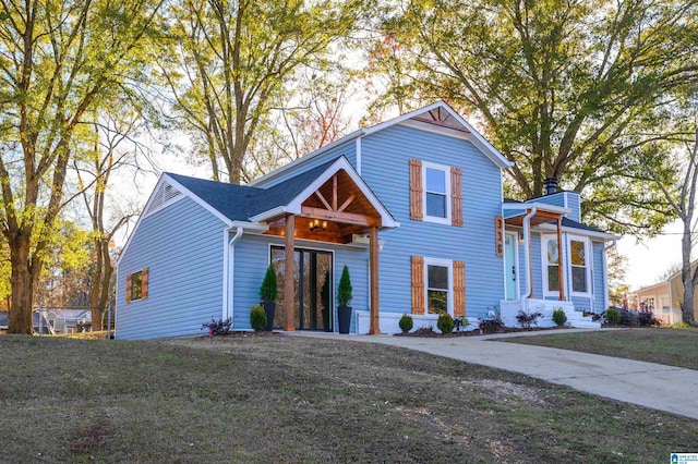
[[(378, 230), (395, 228), (399, 224), (371, 192), (353, 167), (344, 157), (327, 166), (299, 174), (287, 181), (288, 185), (279, 184), (269, 187), (269, 194), (284, 195), (282, 187), (297, 188), (302, 184), (302, 191), (294, 194), (284, 206), (274, 207), (263, 213), (250, 218), (254, 222), (264, 223), (265, 235), (282, 236), (285, 245), (273, 251), (273, 261), (279, 274), (284, 269), (282, 297), (284, 302), (294, 302), (293, 310), (281, 310), (284, 330), (296, 329), (334, 330), (336, 325), (332, 320), (325, 303), (333, 307), (336, 284), (329, 296), (323, 300), (323, 288), (327, 284), (327, 270), (332, 280), (332, 259), (327, 265), (326, 254), (310, 247), (297, 247), (297, 240), (322, 242), (332, 244), (364, 243), (369, 245), (369, 310), (371, 312), (370, 333), (380, 333), (380, 285), (378, 285)], [(277, 190), (279, 192), (277, 192)], [(306, 245), (305, 245), (306, 246)], [(282, 260), (282, 266), (280, 261)], [(278, 267), (276, 266), (278, 264)], [(337, 266), (341, 266), (340, 262)], [(293, 272), (287, 272), (293, 269)], [(354, 269), (365, 272), (365, 269)], [(323, 274), (324, 272), (324, 274)], [(280, 322), (275, 316), (275, 320)]]

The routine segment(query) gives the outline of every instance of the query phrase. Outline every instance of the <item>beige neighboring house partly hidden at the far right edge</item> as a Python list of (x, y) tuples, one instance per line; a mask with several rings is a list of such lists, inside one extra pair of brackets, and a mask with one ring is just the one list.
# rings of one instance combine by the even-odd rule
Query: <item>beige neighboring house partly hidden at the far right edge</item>
[[(691, 273), (696, 271), (696, 266), (698, 261), (691, 262)], [(634, 295), (637, 303), (633, 309), (649, 309), (663, 325), (683, 320), (681, 306), (684, 300), (684, 282), (681, 279), (681, 271), (671, 274), (665, 282), (637, 290)], [(694, 315), (698, 318), (698, 297), (694, 298)]]

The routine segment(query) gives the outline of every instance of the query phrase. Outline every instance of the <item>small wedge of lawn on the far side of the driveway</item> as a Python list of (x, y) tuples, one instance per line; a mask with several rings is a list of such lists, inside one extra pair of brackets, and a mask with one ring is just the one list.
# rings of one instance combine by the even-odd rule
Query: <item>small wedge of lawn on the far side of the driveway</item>
[(627, 329), (519, 337), (500, 341), (698, 369), (698, 330), (696, 329)]

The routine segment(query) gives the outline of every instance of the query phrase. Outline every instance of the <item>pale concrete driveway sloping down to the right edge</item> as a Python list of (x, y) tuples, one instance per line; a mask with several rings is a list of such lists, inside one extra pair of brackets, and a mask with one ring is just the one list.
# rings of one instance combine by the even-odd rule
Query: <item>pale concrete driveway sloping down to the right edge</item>
[[(580, 329), (590, 331), (593, 329)], [(576, 330), (568, 330), (570, 333)], [(574, 389), (698, 419), (698, 370), (568, 350), (497, 342), (522, 333), (431, 339), (393, 335), (338, 335), (296, 332), (380, 343), (497, 367)], [(526, 335), (543, 335), (530, 332)]]

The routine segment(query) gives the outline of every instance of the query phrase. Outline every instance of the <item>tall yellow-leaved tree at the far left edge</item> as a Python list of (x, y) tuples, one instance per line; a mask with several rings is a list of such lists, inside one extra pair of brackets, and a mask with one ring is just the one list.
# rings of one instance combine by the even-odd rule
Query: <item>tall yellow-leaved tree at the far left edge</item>
[(9, 331), (32, 306), (83, 114), (146, 69), (139, 49), (159, 0), (2, 0), (0, 232), (10, 247)]

